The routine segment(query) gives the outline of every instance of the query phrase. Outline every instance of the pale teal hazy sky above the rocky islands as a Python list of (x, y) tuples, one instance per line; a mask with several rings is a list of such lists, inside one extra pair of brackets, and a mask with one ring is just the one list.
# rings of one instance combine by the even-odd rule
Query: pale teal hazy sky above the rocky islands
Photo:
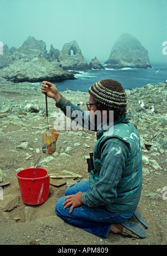
[(88, 62), (105, 62), (123, 32), (149, 51), (151, 64), (165, 64), (167, 0), (0, 0), (0, 41), (9, 47), (34, 36), (61, 51), (76, 40)]

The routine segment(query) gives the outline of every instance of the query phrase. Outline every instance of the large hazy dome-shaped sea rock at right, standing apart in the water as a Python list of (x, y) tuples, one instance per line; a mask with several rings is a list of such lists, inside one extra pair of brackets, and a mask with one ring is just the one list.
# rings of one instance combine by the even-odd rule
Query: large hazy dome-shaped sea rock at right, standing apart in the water
[(115, 42), (109, 60), (105, 64), (112, 69), (151, 67), (148, 51), (128, 33), (123, 33)]

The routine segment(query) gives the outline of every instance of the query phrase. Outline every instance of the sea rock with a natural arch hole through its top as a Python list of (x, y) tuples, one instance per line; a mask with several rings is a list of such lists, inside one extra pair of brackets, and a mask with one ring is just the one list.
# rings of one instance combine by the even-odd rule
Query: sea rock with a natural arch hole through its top
[(59, 55), (59, 61), (63, 69), (88, 68), (87, 61), (75, 40), (63, 45), (63, 49)]

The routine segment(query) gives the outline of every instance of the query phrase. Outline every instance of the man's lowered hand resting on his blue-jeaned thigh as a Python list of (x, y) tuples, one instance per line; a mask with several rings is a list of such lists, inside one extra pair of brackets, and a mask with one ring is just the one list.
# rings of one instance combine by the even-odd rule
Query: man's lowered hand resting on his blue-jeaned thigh
[(81, 199), (82, 192), (77, 192), (75, 195), (67, 196), (65, 198), (65, 202), (63, 202), (63, 205), (65, 205), (65, 209), (72, 205), (70, 208), (70, 213), (73, 211), (73, 208), (76, 206), (80, 206), (83, 204), (82, 199)]

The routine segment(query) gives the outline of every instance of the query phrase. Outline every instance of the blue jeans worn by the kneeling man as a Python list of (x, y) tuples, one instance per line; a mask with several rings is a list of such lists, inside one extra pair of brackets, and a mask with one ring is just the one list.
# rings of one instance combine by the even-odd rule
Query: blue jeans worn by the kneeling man
[(109, 234), (112, 223), (121, 223), (129, 219), (134, 211), (126, 213), (116, 213), (107, 211), (104, 206), (87, 206), (80, 205), (73, 209), (70, 213), (70, 207), (66, 209), (63, 206), (65, 197), (68, 195), (74, 195), (77, 192), (86, 192), (89, 190), (89, 180), (80, 181), (75, 183), (72, 187), (68, 187), (65, 191), (65, 196), (58, 199), (55, 207), (57, 216), (67, 221), (68, 223), (84, 229), (85, 231), (106, 238)]

